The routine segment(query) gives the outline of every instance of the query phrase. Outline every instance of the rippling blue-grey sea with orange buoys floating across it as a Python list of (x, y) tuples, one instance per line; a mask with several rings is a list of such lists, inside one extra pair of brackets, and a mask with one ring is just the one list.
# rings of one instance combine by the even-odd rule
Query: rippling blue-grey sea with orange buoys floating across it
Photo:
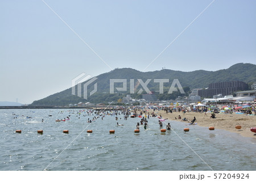
[[(171, 124), (171, 131), (160, 132), (155, 117), (147, 118), (146, 129), (141, 125), (134, 133), (141, 118), (125, 120), (112, 113), (93, 120), (98, 116), (89, 110), (0, 110), (0, 170), (256, 170), (255, 138), (174, 120), (164, 122)], [(69, 120), (55, 121), (67, 116)], [(18, 129), (22, 132), (16, 133)]]

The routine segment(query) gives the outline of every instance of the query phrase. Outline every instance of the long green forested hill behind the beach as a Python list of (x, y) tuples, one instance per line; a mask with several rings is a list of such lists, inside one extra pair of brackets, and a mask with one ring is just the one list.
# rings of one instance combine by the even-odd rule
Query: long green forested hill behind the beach
[[(212, 65), (213, 66), (213, 65)], [(107, 103), (117, 102), (118, 99), (130, 94), (130, 79), (134, 79), (135, 85), (137, 79), (142, 79), (146, 82), (147, 79), (151, 79), (147, 87), (150, 91), (156, 92), (156, 96), (159, 100), (175, 99), (181, 95), (180, 92), (174, 92), (173, 94), (158, 94), (159, 83), (155, 83), (153, 79), (169, 79), (169, 83), (164, 83), (164, 92), (167, 93), (171, 87), (171, 83), (174, 79), (179, 79), (181, 86), (186, 93), (189, 90), (195, 88), (208, 87), (209, 83), (213, 82), (224, 82), (224, 81), (243, 81), (246, 83), (256, 82), (256, 65), (254, 64), (235, 64), (228, 69), (222, 69), (217, 71), (205, 71), (196, 70), (190, 72), (175, 71), (175, 70), (159, 70), (159, 71), (148, 71), (141, 72), (135, 69), (122, 68), (114, 69), (108, 73), (100, 74), (97, 76), (97, 92), (92, 96), (88, 96), (85, 100), (79, 96), (72, 95), (72, 89), (58, 92), (56, 94), (47, 96), (46, 98), (35, 100), (30, 106), (67, 106), (68, 104), (76, 104), (79, 102), (92, 102), (92, 103)], [(109, 94), (109, 79), (127, 79), (127, 91), (117, 91), (115, 94)], [(85, 82), (84, 82), (85, 83)], [(93, 85), (88, 86), (88, 92), (93, 90)], [(83, 87), (83, 86), (82, 86)], [(122, 87), (122, 83), (115, 83), (114, 87)], [(77, 88), (77, 86), (76, 86)], [(135, 93), (141, 89), (142, 86), (138, 85)], [(144, 90), (144, 89), (143, 89)], [(82, 94), (83, 94), (82, 88)], [(145, 91), (142, 94), (146, 94)], [(183, 94), (184, 95), (184, 94)], [(131, 94), (133, 98), (141, 98), (141, 94)]]

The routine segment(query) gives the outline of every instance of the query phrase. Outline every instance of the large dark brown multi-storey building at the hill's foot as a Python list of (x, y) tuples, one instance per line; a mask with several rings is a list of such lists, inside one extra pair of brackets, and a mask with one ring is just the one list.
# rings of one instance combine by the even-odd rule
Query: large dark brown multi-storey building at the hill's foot
[(198, 95), (201, 98), (212, 98), (214, 95), (232, 95), (236, 91), (247, 89), (248, 84), (242, 81), (216, 82), (210, 83), (206, 89), (198, 90)]

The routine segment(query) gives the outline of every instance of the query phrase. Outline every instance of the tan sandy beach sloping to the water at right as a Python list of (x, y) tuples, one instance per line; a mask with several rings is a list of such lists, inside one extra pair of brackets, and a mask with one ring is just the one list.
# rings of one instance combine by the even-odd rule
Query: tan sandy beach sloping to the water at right
[[(256, 133), (250, 131), (251, 127), (256, 127), (256, 116), (247, 116), (239, 115), (236, 113), (216, 113), (216, 118), (211, 119), (211, 113), (199, 113), (199, 112), (186, 112), (183, 115), (183, 112), (164, 112), (164, 111), (155, 111), (158, 115), (162, 115), (163, 119), (181, 121), (184, 117), (188, 120), (192, 120), (193, 117), (196, 117), (197, 125), (201, 127), (214, 127), (215, 129), (224, 129), (226, 131), (234, 132), (241, 134), (244, 137), (256, 138)], [(178, 116), (181, 116), (181, 119), (178, 119)], [(175, 117), (177, 119), (175, 119)], [(188, 121), (182, 121), (188, 123)], [(236, 129), (236, 125), (241, 125), (241, 129)], [(188, 127), (189, 128), (189, 127)]]

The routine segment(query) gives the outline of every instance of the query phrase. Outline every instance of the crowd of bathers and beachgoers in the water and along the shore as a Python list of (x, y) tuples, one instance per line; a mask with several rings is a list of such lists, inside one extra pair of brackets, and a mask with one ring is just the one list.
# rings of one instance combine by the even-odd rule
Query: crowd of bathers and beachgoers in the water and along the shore
[[(69, 117), (73, 117), (74, 115), (80, 119), (80, 117), (85, 117), (87, 123), (92, 123), (93, 121), (96, 121), (98, 119), (104, 120), (105, 116), (113, 116), (114, 120), (117, 121), (116, 125), (119, 126), (123, 126), (124, 124), (119, 124), (119, 120), (121, 121), (122, 119), (127, 120), (129, 117), (139, 117), (141, 118), (139, 122), (137, 122), (136, 124), (136, 129), (140, 129), (140, 127), (142, 126), (145, 130), (148, 129), (148, 121), (150, 120), (150, 117), (158, 117), (159, 121), (159, 127), (162, 129), (164, 126), (166, 127), (167, 130), (171, 129), (171, 125), (170, 123), (166, 123), (165, 121), (167, 119), (163, 119), (162, 115), (158, 115), (159, 111), (164, 111), (164, 113), (166, 114), (172, 114), (174, 112), (179, 112), (180, 115), (177, 117), (174, 117), (175, 120), (180, 120), (180, 121), (186, 121), (188, 123), (188, 125), (195, 125), (197, 123), (196, 122), (196, 116), (189, 117), (189, 115), (187, 115), (187, 112), (196, 112), (196, 113), (204, 113), (204, 116), (208, 117), (208, 113), (210, 113), (209, 118), (210, 119), (216, 119), (216, 114), (218, 113), (232, 113), (232, 111), (235, 110), (234, 107), (232, 108), (225, 108), (224, 107), (228, 107), (228, 106), (223, 106), (221, 109), (220, 108), (213, 108), (212, 110), (210, 110), (211, 107), (207, 107), (207, 106), (203, 106), (203, 107), (194, 107), (191, 106), (189, 107), (157, 107), (157, 108), (146, 108), (146, 107), (129, 107), (129, 108), (122, 108), (122, 109), (116, 109), (116, 110), (68, 110), (67, 112), (69, 113), (68, 116), (65, 116), (64, 119), (56, 119), (56, 121), (66, 121), (69, 120)], [(222, 111), (222, 110), (225, 110)], [(231, 111), (230, 111), (231, 110)], [(255, 106), (248, 106), (248, 108), (246, 110), (237, 110), (239, 112), (245, 112), (249, 115), (252, 115), (253, 112), (255, 114)], [(60, 115), (64, 113), (64, 111), (60, 111), (58, 112)], [(52, 116), (52, 115), (49, 115)], [(182, 118), (182, 117), (183, 118)], [(16, 115), (15, 113), (13, 113), (13, 118), (17, 119), (19, 117), (19, 115)], [(22, 115), (22, 117), (24, 118), (28, 118), (28, 119), (32, 119), (31, 116), (24, 116)], [(89, 117), (89, 118), (88, 118)], [(82, 119), (84, 120), (84, 119)], [(129, 119), (132, 120), (132, 119)], [(138, 120), (138, 119), (136, 119)], [(44, 122), (44, 119), (42, 119), (42, 122)], [(166, 125), (163, 125), (166, 124)]]

